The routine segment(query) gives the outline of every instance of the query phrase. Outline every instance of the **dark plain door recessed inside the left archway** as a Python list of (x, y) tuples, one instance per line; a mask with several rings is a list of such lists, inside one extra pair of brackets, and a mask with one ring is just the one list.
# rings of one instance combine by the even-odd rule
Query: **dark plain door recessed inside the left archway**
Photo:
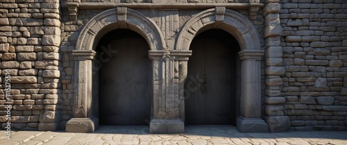
[(112, 58), (100, 70), (100, 123), (146, 124), (151, 110), (149, 45), (137, 35), (114, 40), (105, 47), (109, 45)]

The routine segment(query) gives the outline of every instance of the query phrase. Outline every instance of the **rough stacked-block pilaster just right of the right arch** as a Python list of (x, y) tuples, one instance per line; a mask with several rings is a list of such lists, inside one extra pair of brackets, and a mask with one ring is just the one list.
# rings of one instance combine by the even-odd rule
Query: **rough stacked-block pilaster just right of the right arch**
[(289, 117), (284, 116), (285, 98), (281, 94), (285, 68), (282, 60), (282, 46), (280, 46), (280, 3), (278, 0), (266, 0), (264, 7), (265, 40), (266, 40), (266, 99), (265, 115), (270, 132), (284, 132), (290, 128)]

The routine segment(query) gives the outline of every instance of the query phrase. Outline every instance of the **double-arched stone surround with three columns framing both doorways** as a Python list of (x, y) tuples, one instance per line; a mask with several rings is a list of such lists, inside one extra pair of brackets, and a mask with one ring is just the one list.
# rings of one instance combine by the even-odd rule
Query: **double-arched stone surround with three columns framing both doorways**
[(257, 31), (243, 15), (223, 7), (204, 10), (190, 18), (178, 32), (174, 50), (167, 49), (160, 28), (152, 19), (130, 8), (105, 10), (85, 24), (72, 52), (75, 59), (73, 118), (66, 131), (91, 133), (99, 125), (92, 112), (92, 60), (96, 43), (116, 28), (133, 30), (149, 43), (152, 61), (153, 106), (150, 133), (184, 132), (184, 84), (187, 60), (192, 55), (189, 45), (193, 38), (210, 28), (220, 28), (239, 42), (242, 60), (242, 90), (237, 128), (241, 132), (268, 132), (269, 126), (261, 119), (260, 65), (264, 51)]

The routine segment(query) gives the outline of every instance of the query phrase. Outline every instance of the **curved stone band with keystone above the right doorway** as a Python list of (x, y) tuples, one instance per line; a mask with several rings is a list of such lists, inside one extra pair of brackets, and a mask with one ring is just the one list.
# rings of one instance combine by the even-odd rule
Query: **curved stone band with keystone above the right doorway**
[(178, 35), (176, 50), (189, 50), (194, 37), (210, 28), (221, 28), (233, 35), (241, 50), (261, 49), (258, 33), (251, 21), (238, 12), (217, 7), (200, 12), (185, 23)]

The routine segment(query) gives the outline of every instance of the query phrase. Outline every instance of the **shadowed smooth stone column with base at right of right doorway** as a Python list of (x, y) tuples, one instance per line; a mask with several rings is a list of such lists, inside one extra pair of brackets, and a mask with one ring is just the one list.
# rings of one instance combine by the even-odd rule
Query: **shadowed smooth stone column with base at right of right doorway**
[(237, 129), (242, 133), (269, 132), (269, 126), (261, 119), (260, 63), (264, 51), (243, 50), (239, 52), (242, 67), (240, 114)]

